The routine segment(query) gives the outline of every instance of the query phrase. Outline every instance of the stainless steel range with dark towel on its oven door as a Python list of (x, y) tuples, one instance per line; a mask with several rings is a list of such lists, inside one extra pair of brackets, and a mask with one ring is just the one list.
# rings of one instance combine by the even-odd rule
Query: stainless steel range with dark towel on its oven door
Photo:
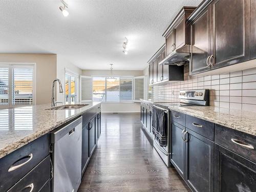
[[(168, 106), (181, 105), (181, 106), (208, 106), (209, 105), (209, 90), (184, 90), (180, 91), (179, 94), (180, 102), (170, 102), (170, 103), (154, 103), (153, 106), (153, 120), (152, 127), (155, 129), (154, 135), (154, 148), (158, 152), (159, 156), (162, 158), (167, 167), (170, 166), (170, 128), (171, 128), (171, 115)], [(159, 116), (159, 114), (161, 117)], [(153, 122), (154, 121), (154, 122)], [(159, 123), (159, 121), (162, 121)], [(154, 127), (155, 126), (155, 127)], [(165, 134), (163, 134), (165, 133)], [(166, 140), (166, 145), (161, 143), (160, 138)]]

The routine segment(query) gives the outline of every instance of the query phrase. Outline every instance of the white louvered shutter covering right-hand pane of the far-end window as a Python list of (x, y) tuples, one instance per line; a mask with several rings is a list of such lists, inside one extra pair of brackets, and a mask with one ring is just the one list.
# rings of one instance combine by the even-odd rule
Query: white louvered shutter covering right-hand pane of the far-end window
[(133, 78), (120, 77), (120, 101), (133, 100)]

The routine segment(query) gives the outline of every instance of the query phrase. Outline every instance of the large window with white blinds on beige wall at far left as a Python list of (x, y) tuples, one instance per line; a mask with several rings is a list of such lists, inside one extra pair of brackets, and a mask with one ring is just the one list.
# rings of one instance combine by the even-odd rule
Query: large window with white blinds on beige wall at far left
[(0, 65), (0, 108), (35, 103), (35, 65)]

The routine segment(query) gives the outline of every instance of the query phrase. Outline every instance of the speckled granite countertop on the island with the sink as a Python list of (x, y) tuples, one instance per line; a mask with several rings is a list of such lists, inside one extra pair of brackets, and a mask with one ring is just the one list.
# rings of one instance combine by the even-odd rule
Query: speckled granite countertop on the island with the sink
[(45, 110), (50, 104), (0, 110), (0, 158), (100, 103), (89, 102), (87, 106), (72, 110)]

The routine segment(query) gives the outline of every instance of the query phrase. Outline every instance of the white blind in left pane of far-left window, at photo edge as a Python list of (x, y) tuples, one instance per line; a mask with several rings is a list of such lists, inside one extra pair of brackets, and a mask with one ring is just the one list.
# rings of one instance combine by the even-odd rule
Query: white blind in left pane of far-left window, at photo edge
[(8, 104), (8, 66), (7, 67), (0, 67), (0, 105), (7, 105)]

